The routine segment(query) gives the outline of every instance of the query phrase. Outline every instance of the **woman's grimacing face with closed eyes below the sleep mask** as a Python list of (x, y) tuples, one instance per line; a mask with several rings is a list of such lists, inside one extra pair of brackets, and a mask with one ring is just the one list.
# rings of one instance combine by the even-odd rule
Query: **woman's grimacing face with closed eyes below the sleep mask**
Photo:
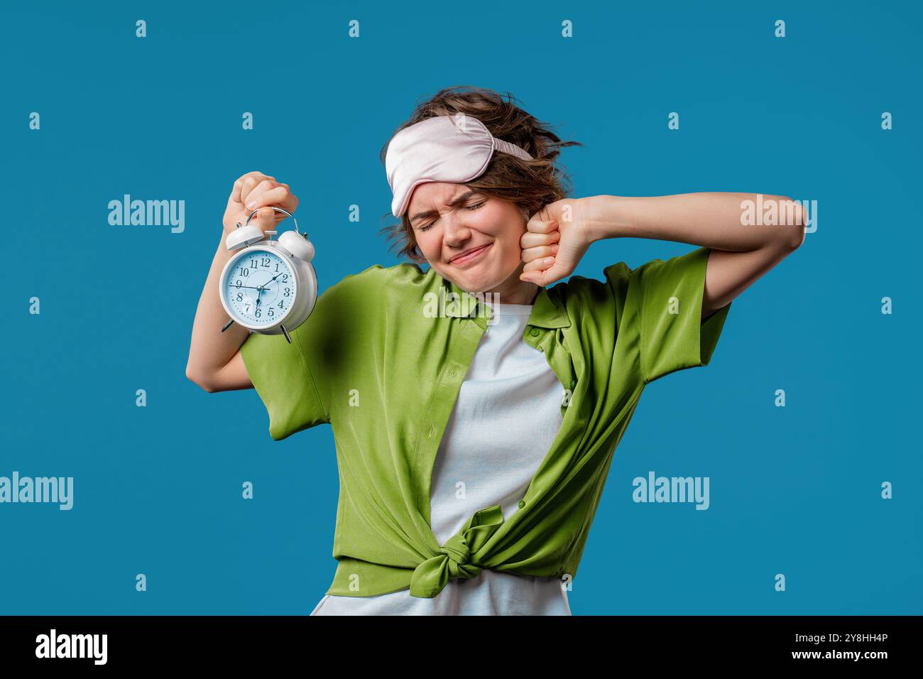
[(505, 303), (532, 303), (538, 286), (519, 278), (527, 219), (516, 203), (464, 184), (426, 182), (414, 188), (407, 214), (417, 247), (443, 278)]

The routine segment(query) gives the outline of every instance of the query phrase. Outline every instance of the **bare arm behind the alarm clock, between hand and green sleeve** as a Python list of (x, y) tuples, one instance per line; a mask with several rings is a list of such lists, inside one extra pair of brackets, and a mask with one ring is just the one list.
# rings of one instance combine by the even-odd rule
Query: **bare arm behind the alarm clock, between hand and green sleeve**
[(228, 321), (228, 315), (218, 297), (218, 279), (224, 264), (235, 254), (225, 247), (224, 236), (222, 232), (205, 287), (202, 288), (202, 295), (198, 299), (196, 319), (192, 325), (189, 359), (186, 364), (186, 375), (189, 379), (203, 385), (234, 358), (234, 354), (250, 334), (249, 330), (237, 323), (232, 323), (227, 330), (221, 332)]

